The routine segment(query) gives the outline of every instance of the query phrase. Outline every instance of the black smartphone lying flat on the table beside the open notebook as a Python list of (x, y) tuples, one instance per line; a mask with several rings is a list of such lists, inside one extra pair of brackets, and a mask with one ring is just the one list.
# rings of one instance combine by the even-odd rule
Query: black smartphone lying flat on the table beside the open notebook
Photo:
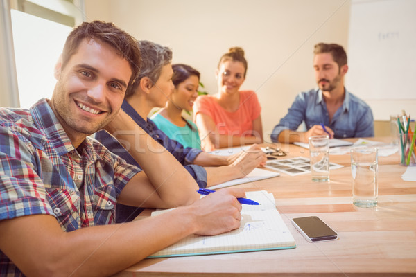
[(338, 239), (338, 233), (317, 216), (293, 218), (292, 224), (309, 242)]

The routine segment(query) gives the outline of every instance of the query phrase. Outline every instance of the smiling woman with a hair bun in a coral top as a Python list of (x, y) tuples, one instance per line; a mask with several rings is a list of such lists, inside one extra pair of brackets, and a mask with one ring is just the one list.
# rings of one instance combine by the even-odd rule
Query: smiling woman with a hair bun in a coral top
[(194, 120), (205, 151), (263, 142), (257, 95), (254, 91), (239, 91), (246, 72), (243, 49), (230, 48), (216, 71), (218, 93), (196, 98)]

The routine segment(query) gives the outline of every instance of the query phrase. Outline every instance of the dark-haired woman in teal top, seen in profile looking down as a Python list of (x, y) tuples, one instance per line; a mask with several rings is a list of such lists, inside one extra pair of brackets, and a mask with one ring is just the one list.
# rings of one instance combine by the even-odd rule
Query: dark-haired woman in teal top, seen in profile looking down
[(200, 73), (186, 64), (173, 64), (172, 82), (175, 85), (166, 107), (150, 119), (169, 138), (179, 141), (184, 147), (201, 148), (198, 128), (182, 116), (182, 111), (192, 111), (198, 96)]

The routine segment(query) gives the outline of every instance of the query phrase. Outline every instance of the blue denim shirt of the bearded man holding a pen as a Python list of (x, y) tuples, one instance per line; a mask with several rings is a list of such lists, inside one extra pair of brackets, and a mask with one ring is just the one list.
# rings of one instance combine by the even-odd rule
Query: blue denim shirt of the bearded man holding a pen
[(333, 130), (333, 136), (338, 139), (374, 136), (374, 119), (370, 106), (347, 89), (343, 105), (335, 112), (331, 122), (320, 89), (298, 94), (288, 114), (281, 118), (273, 129), (272, 141), (277, 142), (279, 134), (284, 129), (295, 131), (302, 122), (305, 123), (306, 129), (311, 129), (313, 125), (328, 126)]

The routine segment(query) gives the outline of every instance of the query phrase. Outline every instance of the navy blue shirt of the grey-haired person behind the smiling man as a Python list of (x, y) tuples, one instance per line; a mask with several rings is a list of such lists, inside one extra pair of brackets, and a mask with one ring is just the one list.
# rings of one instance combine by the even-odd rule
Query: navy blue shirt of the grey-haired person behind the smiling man
[[(173, 156), (179, 161), (192, 175), (193, 179), (196, 180), (196, 183), (200, 188), (205, 188), (207, 186), (207, 171), (202, 166), (193, 165), (193, 160), (195, 160), (196, 156), (202, 152), (200, 149), (196, 148), (184, 148), (184, 146), (172, 139), (169, 139), (168, 136), (162, 130), (157, 128), (155, 123), (153, 123), (152, 120), (147, 118), (147, 120), (144, 120), (137, 111), (127, 102), (123, 101), (123, 105), (121, 105), (121, 108), (123, 111), (125, 111), (126, 114), (128, 114), (137, 125), (141, 127), (141, 129), (144, 129), (145, 132), (147, 132), (150, 136), (152, 136), (155, 141), (163, 145), (166, 150), (171, 152)], [(128, 163), (134, 164), (135, 166), (139, 166), (139, 163), (135, 161), (135, 159), (129, 154), (125, 148), (114, 139), (113, 136), (105, 132), (104, 130), (97, 132), (95, 134), (95, 138), (98, 141), (101, 141), (105, 147), (108, 148), (111, 152), (114, 154), (119, 155), (123, 159), (125, 159)], [(137, 146), (137, 145), (136, 145)], [(135, 146), (135, 147), (136, 147)], [(163, 170), (161, 168), (161, 170)], [(135, 216), (138, 215), (142, 209), (138, 208), (132, 208), (130, 206), (125, 206), (121, 204), (117, 204), (116, 208), (116, 222), (125, 222), (125, 221), (131, 221), (135, 219)]]

